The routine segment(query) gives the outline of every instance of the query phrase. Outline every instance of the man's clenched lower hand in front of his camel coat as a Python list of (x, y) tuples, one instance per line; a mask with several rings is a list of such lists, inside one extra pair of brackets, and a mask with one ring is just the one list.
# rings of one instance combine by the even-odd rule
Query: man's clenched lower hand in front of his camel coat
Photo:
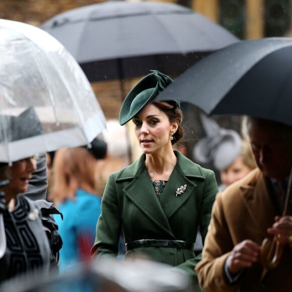
[(239, 273), (243, 268), (249, 268), (258, 260), (260, 247), (251, 240), (237, 244), (227, 259), (227, 267), (231, 274)]

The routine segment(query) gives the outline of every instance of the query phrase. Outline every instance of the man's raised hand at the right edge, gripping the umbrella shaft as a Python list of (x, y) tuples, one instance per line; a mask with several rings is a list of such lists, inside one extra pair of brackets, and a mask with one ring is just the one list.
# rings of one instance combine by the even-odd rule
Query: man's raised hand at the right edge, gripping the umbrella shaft
[(268, 234), (274, 235), (274, 240), (280, 244), (292, 244), (292, 216), (276, 216), (275, 223), (268, 228)]

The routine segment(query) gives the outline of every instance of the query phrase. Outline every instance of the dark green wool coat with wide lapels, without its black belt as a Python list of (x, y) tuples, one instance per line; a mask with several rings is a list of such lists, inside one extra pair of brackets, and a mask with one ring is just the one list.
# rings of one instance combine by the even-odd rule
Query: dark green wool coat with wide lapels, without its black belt
[[(204, 242), (211, 208), (218, 192), (214, 173), (175, 151), (177, 164), (158, 199), (145, 167), (145, 155), (109, 176), (91, 254), (118, 254), (121, 231), (125, 243), (139, 239), (195, 242), (198, 228)], [(177, 188), (187, 185), (176, 196)], [(143, 254), (150, 259), (187, 271), (197, 282), (194, 268), (201, 259), (193, 251), (170, 247), (142, 247), (126, 257)]]

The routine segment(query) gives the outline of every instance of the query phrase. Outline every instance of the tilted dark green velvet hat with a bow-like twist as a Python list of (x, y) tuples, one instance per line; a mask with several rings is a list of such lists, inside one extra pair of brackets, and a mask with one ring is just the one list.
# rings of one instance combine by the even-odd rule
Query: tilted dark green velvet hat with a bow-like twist
[[(124, 125), (131, 120), (145, 105), (163, 91), (173, 81), (157, 70), (141, 79), (128, 93), (120, 110), (119, 122)], [(179, 106), (179, 102), (177, 102)]]

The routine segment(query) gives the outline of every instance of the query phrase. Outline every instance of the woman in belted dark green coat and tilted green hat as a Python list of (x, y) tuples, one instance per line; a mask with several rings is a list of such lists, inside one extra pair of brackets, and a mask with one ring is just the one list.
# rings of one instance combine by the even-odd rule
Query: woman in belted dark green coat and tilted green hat
[(133, 120), (143, 154), (109, 176), (91, 253), (117, 256), (122, 232), (126, 257), (143, 255), (181, 268), (197, 283), (201, 257), (194, 242), (198, 228), (205, 239), (218, 189), (212, 171), (173, 151), (183, 136), (179, 102), (154, 100), (171, 82), (153, 70), (122, 104), (119, 122)]

